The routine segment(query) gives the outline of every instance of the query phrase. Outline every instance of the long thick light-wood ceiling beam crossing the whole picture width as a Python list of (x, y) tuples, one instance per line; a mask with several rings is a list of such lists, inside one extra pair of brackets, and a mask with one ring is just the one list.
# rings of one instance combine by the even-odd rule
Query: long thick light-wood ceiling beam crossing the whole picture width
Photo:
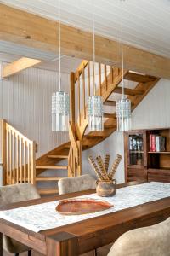
[[(0, 39), (58, 53), (58, 22), (0, 4)], [(63, 55), (92, 61), (93, 35), (61, 24)], [(121, 67), (121, 44), (96, 35), (96, 61)], [(124, 44), (125, 68), (170, 79), (170, 59)]]

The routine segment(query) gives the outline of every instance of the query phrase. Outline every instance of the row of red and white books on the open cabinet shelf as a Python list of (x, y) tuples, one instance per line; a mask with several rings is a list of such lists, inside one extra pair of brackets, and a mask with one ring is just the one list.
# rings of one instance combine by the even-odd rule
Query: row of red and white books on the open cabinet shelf
[(165, 151), (165, 137), (157, 134), (150, 134), (150, 151), (151, 152)]

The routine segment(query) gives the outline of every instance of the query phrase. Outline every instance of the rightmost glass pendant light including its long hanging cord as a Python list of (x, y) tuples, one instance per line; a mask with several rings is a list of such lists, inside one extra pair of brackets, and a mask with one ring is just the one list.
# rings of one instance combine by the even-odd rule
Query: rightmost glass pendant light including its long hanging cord
[[(121, 0), (122, 2), (122, 0)], [(116, 102), (117, 131), (131, 130), (131, 101), (125, 97), (124, 93), (124, 60), (122, 44), (122, 21), (121, 21), (121, 56), (122, 56), (122, 99)]]

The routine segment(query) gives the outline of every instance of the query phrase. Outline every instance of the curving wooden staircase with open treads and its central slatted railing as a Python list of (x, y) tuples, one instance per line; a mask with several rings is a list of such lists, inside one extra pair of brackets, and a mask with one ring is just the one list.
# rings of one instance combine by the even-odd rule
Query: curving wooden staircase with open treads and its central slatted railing
[[(107, 70), (110, 69), (108, 73)], [(110, 96), (114, 94), (122, 94), (122, 70), (117, 67), (106, 67), (104, 65), (103, 82), (101, 81), (101, 64), (99, 64), (99, 83), (97, 89), (97, 95), (102, 96), (104, 106), (113, 107), (112, 113), (104, 113), (105, 124), (104, 131), (102, 132), (88, 132), (85, 134), (88, 126), (87, 116), (87, 98), (91, 94), (90, 85), (90, 62), (82, 61), (81, 65), (77, 68), (75, 73), (71, 73), (71, 122), (70, 122), (70, 139), (71, 143), (64, 143), (57, 148), (54, 148), (47, 154), (42, 155), (36, 160), (36, 182), (49, 183), (48, 189), (40, 189), (41, 194), (53, 194), (57, 191), (57, 186), (50, 187), (50, 182), (55, 181), (56, 183), (62, 177), (41, 177), (40, 174), (48, 169), (58, 170), (62, 172), (63, 177), (81, 175), (81, 160), (82, 150), (92, 148), (98, 143), (109, 137), (111, 133), (116, 131), (116, 100), (111, 100)], [(87, 77), (85, 72), (87, 71)], [(139, 105), (149, 91), (156, 85), (159, 78), (144, 75), (140, 73), (133, 73), (132, 71), (125, 70), (123, 73), (124, 79), (136, 82), (137, 84), (133, 89), (125, 88), (125, 94), (132, 102), (132, 111)], [(88, 81), (86, 81), (86, 79)], [(81, 88), (82, 81), (82, 88)], [(85, 85), (87, 82), (88, 86)], [(76, 106), (75, 91), (78, 91), (78, 102)], [(81, 96), (82, 90), (82, 96)], [(87, 93), (87, 94), (86, 94)], [(82, 104), (81, 104), (82, 101)], [(82, 105), (82, 109), (81, 106)], [(77, 108), (77, 113), (75, 109)], [(76, 116), (77, 114), (77, 122)], [(76, 154), (76, 155), (75, 155)], [(60, 165), (60, 161), (68, 160), (67, 165)], [(67, 172), (65, 172), (67, 171)]]

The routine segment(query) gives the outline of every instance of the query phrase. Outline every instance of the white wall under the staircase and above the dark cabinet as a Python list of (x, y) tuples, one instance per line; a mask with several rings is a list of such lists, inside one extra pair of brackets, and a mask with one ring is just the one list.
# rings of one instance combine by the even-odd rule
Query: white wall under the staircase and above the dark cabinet
[[(135, 129), (170, 127), (170, 80), (161, 79), (139, 106), (133, 111), (132, 126)], [(114, 132), (103, 143), (82, 152), (83, 172), (93, 173), (88, 155), (111, 154), (111, 163), (116, 154), (122, 154), (122, 162), (116, 172), (118, 183), (124, 182), (123, 134)]]

